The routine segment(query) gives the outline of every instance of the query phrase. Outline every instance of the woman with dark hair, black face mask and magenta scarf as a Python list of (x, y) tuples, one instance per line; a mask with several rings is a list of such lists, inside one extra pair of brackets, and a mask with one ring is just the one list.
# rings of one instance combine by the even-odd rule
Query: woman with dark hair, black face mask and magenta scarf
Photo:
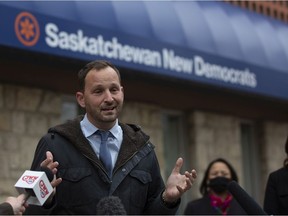
[(230, 181), (238, 182), (234, 168), (223, 158), (211, 161), (200, 186), (202, 198), (190, 201), (185, 215), (243, 215), (244, 209), (229, 193)]

